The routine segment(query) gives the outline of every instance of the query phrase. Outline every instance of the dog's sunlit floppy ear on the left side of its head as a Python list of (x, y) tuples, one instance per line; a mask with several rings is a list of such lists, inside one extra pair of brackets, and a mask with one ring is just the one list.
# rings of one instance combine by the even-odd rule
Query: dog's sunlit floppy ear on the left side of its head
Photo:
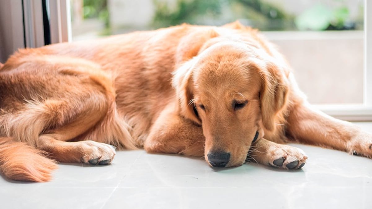
[(182, 64), (173, 73), (173, 87), (176, 89), (176, 96), (178, 100), (178, 111), (187, 119), (201, 125), (202, 122), (198, 116), (198, 112), (194, 107), (192, 100), (194, 99), (193, 93), (193, 78), (192, 69), (195, 65), (195, 59), (191, 59)]

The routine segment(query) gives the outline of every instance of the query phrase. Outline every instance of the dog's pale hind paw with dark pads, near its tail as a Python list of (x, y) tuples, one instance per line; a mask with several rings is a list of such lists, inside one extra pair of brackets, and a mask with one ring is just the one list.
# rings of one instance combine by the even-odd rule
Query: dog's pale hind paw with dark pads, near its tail
[(111, 163), (115, 156), (115, 148), (111, 145), (95, 141), (80, 141), (79, 143), (81, 163), (106, 165)]

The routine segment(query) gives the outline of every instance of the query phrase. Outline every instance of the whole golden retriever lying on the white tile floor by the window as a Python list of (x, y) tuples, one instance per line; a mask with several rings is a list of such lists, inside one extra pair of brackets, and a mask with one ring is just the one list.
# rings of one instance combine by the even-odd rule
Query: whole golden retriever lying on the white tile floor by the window
[(0, 69), (0, 168), (12, 180), (109, 164), (115, 148), (299, 169), (308, 157), (287, 142), (371, 158), (371, 139), (309, 105), (275, 46), (239, 22), (20, 49)]

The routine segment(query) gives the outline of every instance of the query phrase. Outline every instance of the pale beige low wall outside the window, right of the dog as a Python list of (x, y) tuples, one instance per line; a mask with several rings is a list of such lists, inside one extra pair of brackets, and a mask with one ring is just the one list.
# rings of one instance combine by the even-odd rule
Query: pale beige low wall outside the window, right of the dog
[(264, 32), (310, 103), (363, 103), (363, 32)]

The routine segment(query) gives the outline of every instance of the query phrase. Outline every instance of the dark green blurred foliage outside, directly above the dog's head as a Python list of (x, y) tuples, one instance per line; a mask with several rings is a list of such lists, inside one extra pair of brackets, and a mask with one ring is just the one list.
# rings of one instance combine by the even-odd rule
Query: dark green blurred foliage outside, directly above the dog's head
[(237, 19), (248, 20), (246, 24), (265, 30), (294, 28), (294, 16), (261, 0), (176, 0), (173, 5), (167, 0), (154, 0), (154, 4), (154, 28), (184, 22), (221, 25)]

